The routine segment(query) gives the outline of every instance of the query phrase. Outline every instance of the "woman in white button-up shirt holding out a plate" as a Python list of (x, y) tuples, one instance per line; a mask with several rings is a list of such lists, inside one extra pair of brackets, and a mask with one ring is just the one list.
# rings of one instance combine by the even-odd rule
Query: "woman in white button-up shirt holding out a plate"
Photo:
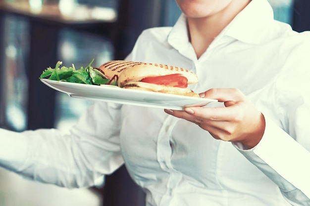
[(187, 68), (218, 99), (171, 111), (98, 102), (70, 134), (0, 130), (0, 164), (65, 187), (125, 164), (148, 206), (310, 205), (310, 35), (267, 0), (177, 0), (172, 28), (141, 34), (128, 60)]

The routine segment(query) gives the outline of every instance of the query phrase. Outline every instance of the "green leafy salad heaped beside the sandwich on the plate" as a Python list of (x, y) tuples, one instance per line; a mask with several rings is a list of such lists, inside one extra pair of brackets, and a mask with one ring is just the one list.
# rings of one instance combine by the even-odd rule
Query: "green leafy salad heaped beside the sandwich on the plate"
[(110, 84), (117, 85), (117, 80), (107, 79), (103, 72), (97, 68), (93, 68), (91, 65), (94, 59), (85, 67), (80, 69), (75, 69), (74, 65), (72, 67), (62, 66), (62, 62), (58, 61), (55, 68), (48, 67), (44, 70), (39, 79), (47, 78), (49, 80), (63, 81), (63, 82), (74, 82), (74, 83), (84, 83), (84, 84)]

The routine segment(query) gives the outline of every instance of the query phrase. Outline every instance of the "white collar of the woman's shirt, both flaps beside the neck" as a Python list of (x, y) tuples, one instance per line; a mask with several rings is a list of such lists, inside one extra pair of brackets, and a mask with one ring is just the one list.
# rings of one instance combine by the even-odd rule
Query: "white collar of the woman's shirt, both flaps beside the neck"
[[(273, 20), (273, 10), (267, 0), (252, 0), (219, 34), (229, 36), (246, 43), (259, 43), (264, 34), (261, 32)], [(181, 14), (167, 39), (168, 43), (178, 50), (189, 49), (189, 34), (185, 14)]]

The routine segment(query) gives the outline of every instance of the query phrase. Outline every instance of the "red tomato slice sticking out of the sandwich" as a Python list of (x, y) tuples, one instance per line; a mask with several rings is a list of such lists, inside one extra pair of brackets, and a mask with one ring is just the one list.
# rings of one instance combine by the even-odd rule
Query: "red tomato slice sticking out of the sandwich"
[(188, 80), (181, 74), (172, 74), (158, 77), (146, 77), (141, 80), (141, 82), (186, 88)]

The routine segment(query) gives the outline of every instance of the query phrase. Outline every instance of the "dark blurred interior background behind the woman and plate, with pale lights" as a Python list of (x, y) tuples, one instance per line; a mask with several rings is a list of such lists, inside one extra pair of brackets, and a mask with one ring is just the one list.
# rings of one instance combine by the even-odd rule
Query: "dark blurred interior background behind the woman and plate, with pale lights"
[[(275, 19), (310, 29), (309, 0), (269, 1)], [(144, 29), (172, 26), (180, 13), (175, 0), (0, 0), (0, 127), (67, 131), (93, 102), (44, 86), (42, 71), (58, 60), (79, 68), (123, 59)], [(142, 206), (143, 198), (124, 168), (74, 190), (0, 169), (0, 206)]]

